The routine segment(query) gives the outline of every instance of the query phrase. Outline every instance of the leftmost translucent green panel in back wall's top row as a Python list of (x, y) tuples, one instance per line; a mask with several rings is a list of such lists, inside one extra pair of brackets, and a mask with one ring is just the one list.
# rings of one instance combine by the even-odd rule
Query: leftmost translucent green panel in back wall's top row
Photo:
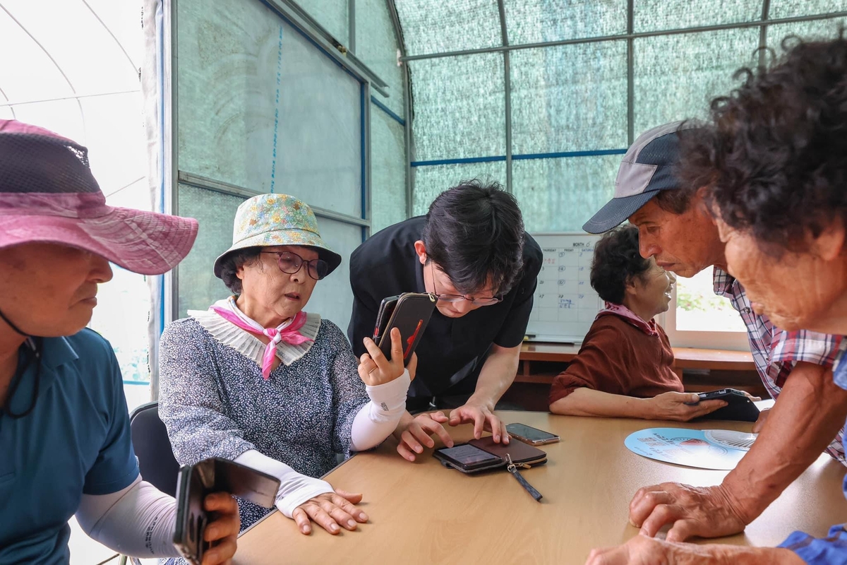
[(503, 44), (495, 0), (400, 0), (396, 7), (407, 55)]

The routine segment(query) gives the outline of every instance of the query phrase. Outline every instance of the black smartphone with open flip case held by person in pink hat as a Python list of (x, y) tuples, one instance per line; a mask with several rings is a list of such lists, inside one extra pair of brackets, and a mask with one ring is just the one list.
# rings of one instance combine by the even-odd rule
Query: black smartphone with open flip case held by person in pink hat
[(194, 465), (183, 465), (176, 482), (174, 546), (188, 562), (200, 565), (208, 549), (203, 533), (213, 518), (203, 509), (208, 494), (224, 491), (273, 508), (278, 490), (280, 479), (228, 459), (212, 457)]

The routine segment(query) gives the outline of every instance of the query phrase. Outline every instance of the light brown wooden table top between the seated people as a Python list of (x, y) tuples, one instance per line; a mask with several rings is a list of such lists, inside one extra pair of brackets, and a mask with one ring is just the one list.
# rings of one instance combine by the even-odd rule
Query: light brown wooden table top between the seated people
[[(717, 485), (725, 471), (658, 463), (623, 446), (624, 438), (650, 427), (726, 428), (750, 424), (673, 424), (645, 420), (576, 418), (549, 413), (502, 412), (562, 435), (542, 446), (549, 463), (523, 472), (544, 495), (534, 501), (507, 472), (467, 476), (443, 468), (424, 451), (416, 463), (396, 454), (387, 441), (352, 457), (326, 477), (336, 488), (363, 492), (370, 522), (337, 536), (315, 529), (300, 534), (280, 512), (269, 514), (241, 535), (235, 563), (584, 563), (594, 547), (613, 546), (636, 535), (628, 503), (643, 485), (679, 481)], [(468, 425), (451, 429), (465, 440)], [(847, 520), (841, 495), (844, 467), (822, 455), (800, 479), (747, 528), (717, 540), (774, 546), (794, 529), (824, 535)]]

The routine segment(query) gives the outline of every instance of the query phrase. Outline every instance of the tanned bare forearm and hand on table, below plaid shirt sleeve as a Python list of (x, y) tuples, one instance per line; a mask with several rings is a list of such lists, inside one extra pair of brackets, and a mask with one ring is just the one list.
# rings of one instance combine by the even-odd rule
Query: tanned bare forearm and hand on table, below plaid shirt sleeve
[(735, 534), (821, 455), (847, 416), (847, 391), (832, 371), (797, 363), (758, 439), (721, 485), (663, 483), (639, 489), (629, 520), (645, 535), (667, 523), (667, 540)]

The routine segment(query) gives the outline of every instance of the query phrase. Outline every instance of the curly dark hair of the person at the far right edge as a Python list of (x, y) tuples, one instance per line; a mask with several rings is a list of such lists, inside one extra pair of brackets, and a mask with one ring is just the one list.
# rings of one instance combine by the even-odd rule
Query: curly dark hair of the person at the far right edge
[(711, 102), (681, 175), (708, 186), (724, 222), (779, 255), (835, 219), (847, 224), (847, 40), (787, 37), (771, 69), (740, 69), (742, 86)]

